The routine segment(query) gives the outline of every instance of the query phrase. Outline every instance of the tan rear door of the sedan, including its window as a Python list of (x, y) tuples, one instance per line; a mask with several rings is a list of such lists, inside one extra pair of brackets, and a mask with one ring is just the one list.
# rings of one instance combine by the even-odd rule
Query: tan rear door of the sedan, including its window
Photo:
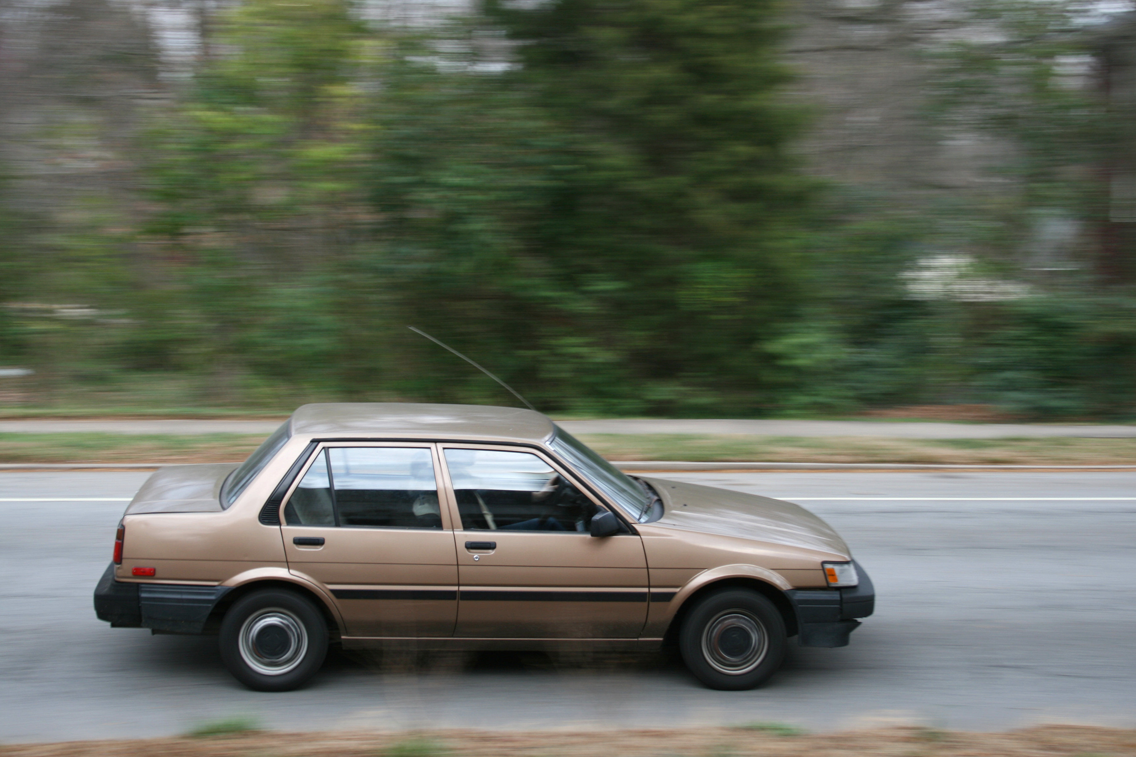
[(351, 637), (448, 637), (458, 612), (450, 508), (431, 444), (324, 444), (284, 504), (289, 570), (335, 597)]

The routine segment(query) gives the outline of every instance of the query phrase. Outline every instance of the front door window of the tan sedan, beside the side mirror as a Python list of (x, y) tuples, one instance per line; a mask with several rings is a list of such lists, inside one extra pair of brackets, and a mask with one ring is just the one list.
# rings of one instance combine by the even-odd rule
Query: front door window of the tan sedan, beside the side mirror
[(541, 457), (498, 449), (445, 451), (467, 531), (587, 531), (595, 504)]

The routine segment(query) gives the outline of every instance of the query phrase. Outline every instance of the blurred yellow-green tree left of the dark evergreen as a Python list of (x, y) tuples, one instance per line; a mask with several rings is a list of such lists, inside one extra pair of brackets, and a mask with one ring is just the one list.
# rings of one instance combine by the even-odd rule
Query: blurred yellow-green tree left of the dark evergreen
[(248, 0), (211, 30), (212, 56), (151, 132), (144, 232), (169, 276), (139, 305), (151, 331), (137, 343), (183, 355), (167, 365), (207, 365), (212, 401), (258, 373), (326, 386), (328, 281), (368, 217), (366, 30), (340, 0)]

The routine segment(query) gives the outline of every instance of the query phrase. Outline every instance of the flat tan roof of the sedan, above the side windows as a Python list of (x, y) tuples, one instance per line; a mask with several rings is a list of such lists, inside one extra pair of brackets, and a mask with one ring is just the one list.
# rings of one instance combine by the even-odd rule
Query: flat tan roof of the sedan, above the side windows
[(432, 405), (403, 402), (329, 402), (300, 406), (292, 434), (314, 437), (374, 437), (541, 444), (552, 421), (520, 407)]

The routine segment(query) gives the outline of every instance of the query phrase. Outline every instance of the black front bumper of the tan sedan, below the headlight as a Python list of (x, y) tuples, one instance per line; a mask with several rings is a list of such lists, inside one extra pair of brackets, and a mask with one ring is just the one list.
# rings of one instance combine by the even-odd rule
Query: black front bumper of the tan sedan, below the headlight
[(858, 586), (846, 589), (791, 589), (785, 592), (796, 613), (797, 642), (802, 647), (846, 647), (849, 636), (876, 609), (876, 588), (860, 563)]

